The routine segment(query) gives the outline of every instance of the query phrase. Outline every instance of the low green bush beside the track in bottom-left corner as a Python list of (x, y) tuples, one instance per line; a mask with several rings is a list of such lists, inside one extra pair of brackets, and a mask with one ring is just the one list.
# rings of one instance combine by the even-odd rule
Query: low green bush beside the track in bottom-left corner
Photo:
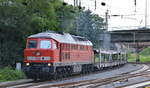
[(20, 70), (5, 67), (0, 70), (0, 81), (11, 81), (25, 78), (25, 74)]

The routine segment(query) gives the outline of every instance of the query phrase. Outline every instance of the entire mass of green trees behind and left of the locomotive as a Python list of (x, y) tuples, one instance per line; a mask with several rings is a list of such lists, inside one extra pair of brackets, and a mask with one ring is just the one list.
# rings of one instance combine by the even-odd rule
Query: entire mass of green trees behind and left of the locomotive
[(85, 36), (98, 46), (103, 20), (61, 0), (0, 0), (0, 66), (23, 59), (26, 37), (54, 30)]

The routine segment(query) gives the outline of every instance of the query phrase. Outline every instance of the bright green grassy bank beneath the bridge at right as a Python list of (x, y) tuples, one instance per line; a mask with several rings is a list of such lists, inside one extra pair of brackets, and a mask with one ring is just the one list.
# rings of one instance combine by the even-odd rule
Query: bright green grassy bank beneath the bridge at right
[[(128, 54), (128, 61), (135, 62), (136, 61), (136, 54), (129, 53)], [(140, 52), (140, 62), (150, 62), (150, 48), (146, 48)]]

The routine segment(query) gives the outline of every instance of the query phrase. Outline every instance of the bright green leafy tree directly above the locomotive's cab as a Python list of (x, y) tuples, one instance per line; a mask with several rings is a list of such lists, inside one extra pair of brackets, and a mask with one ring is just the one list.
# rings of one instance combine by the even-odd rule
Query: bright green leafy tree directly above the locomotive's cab
[[(57, 3), (56, 3), (57, 1)], [(35, 33), (48, 29), (57, 30), (58, 22), (55, 6), (61, 2), (58, 0), (24, 0), (28, 15), (32, 18), (32, 27)], [(59, 4), (58, 4), (59, 3)]]

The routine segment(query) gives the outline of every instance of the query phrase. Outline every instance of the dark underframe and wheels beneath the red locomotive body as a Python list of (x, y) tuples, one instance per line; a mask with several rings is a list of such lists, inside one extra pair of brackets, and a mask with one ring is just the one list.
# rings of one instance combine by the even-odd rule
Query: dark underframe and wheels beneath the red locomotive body
[(47, 63), (30, 63), (30, 66), (24, 66), (24, 72), (27, 77), (32, 79), (56, 79), (71, 76), (73, 74), (85, 74), (93, 70), (93, 64), (47, 66)]

